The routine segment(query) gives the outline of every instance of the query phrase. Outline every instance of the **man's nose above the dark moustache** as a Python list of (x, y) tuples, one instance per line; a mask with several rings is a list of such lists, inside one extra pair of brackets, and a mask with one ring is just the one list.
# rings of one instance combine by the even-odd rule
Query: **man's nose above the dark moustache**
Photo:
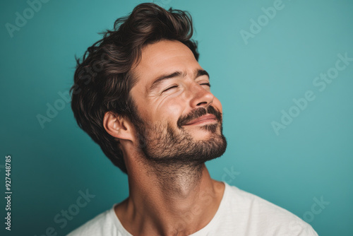
[(190, 106), (193, 108), (208, 107), (212, 104), (215, 96), (210, 92), (209, 88), (205, 88), (206, 85), (200, 85), (193, 83), (190, 87), (189, 93), (191, 94)]

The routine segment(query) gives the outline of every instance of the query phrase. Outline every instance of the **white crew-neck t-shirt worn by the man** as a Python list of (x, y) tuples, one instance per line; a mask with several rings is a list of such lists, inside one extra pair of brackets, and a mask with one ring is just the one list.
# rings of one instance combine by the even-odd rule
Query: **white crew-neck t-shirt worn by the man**
[[(114, 206), (68, 236), (131, 236), (116, 217)], [(227, 183), (213, 219), (192, 234), (205, 235), (318, 236), (311, 225), (284, 208)]]

